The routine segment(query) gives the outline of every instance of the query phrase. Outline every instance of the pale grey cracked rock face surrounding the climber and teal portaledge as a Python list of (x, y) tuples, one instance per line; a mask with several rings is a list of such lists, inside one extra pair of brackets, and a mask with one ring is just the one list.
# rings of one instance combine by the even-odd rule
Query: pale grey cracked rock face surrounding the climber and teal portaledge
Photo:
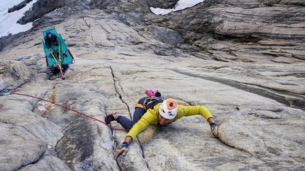
[[(150, 11), (176, 3), (38, 0), (18, 21), (33, 28), (0, 39), (0, 170), (305, 170), (305, 1)], [(75, 58), (65, 80), (45, 64), (52, 27)], [(104, 117), (132, 118), (149, 88), (206, 106), (219, 138), (184, 117), (113, 160), (127, 132)]]

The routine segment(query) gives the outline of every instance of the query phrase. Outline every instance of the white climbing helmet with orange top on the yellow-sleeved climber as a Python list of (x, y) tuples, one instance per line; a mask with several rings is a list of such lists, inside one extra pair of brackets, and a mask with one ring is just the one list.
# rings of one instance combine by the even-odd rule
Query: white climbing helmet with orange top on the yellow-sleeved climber
[(165, 119), (174, 119), (178, 112), (178, 103), (174, 99), (167, 99), (162, 102), (159, 108), (159, 113)]

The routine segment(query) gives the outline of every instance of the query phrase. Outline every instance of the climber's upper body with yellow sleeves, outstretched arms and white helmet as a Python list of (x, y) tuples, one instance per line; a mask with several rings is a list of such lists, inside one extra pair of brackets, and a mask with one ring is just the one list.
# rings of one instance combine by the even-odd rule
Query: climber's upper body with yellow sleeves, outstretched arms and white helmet
[(116, 148), (116, 151), (114, 152), (114, 159), (116, 160), (118, 155), (126, 155), (128, 152), (128, 145), (131, 143), (131, 141), (133, 141), (133, 139), (150, 124), (165, 125), (182, 117), (189, 117), (196, 114), (201, 114), (201, 116), (209, 122), (211, 126), (211, 134), (218, 137), (218, 126), (212, 114), (206, 107), (201, 105), (178, 105), (176, 100), (169, 98), (164, 100), (162, 103), (155, 105), (152, 110), (147, 110), (145, 114), (143, 114), (143, 117), (141, 117), (138, 122), (132, 126), (131, 130), (128, 131), (122, 145)]

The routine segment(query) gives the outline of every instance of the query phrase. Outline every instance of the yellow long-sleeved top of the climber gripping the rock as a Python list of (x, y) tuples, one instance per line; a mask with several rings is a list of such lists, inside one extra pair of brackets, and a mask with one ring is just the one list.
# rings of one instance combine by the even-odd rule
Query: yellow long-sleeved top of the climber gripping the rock
[[(141, 119), (133, 125), (131, 130), (128, 131), (127, 136), (131, 136), (131, 138), (135, 138), (138, 134), (140, 134), (141, 131), (146, 129), (150, 124), (158, 124), (159, 123), (159, 108), (161, 103), (158, 105), (155, 105), (153, 110), (148, 110), (143, 114)], [(184, 105), (178, 105), (178, 113), (174, 119), (170, 121), (170, 123), (176, 121), (177, 119), (180, 119), (182, 117), (189, 117), (192, 115), (201, 114), (202, 117), (204, 117), (206, 120), (213, 117), (211, 112), (209, 110), (201, 105), (196, 106), (184, 106)]]

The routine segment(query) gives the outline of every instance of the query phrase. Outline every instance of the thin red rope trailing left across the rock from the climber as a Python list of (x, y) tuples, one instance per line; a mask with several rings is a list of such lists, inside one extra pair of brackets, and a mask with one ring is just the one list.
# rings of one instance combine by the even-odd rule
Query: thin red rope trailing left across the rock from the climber
[[(34, 75), (34, 76), (35, 76), (35, 75)], [(30, 77), (30, 80), (33, 79), (34, 76), (31, 76), (31, 77)], [(15, 94), (15, 95), (25, 95), (25, 94), (21, 94), (21, 93), (15, 93), (15, 91), (16, 91), (18, 88), (20, 88), (21, 86), (23, 86), (23, 85), (25, 85), (26, 83), (28, 83), (30, 80), (26, 81), (25, 83), (21, 84), (20, 86), (18, 86), (18, 87), (15, 88), (14, 90), (12, 90), (11, 93), (12, 93), (12, 94)], [(106, 124), (105, 122), (101, 121), (100, 119), (96, 119), (95, 117), (91, 117), (91, 116), (89, 116), (89, 115), (87, 115), (87, 114), (84, 114), (84, 113), (82, 113), (82, 112), (78, 112), (77, 110), (72, 110), (72, 109), (69, 108), (69, 107), (65, 107), (65, 106), (63, 106), (63, 105), (59, 105), (59, 104), (57, 104), (57, 103), (55, 103), (55, 102), (51, 102), (51, 101), (49, 101), (49, 100), (44, 100), (43, 98), (38, 98), (38, 97), (35, 97), (35, 96), (33, 96), (33, 95), (25, 95), (25, 96), (28, 96), (28, 97), (30, 97), (30, 98), (36, 98), (36, 99), (39, 99), (39, 100), (43, 100), (43, 101), (45, 101), (45, 102), (50, 102), (50, 103), (52, 103), (52, 104), (54, 104), (54, 105), (63, 107), (63, 108), (65, 108), (66, 110), (71, 110), (71, 111), (73, 111), (73, 112), (77, 112), (78, 114), (82, 114), (82, 115), (85, 116), (85, 117), (89, 117), (90, 119), (94, 119), (94, 120), (96, 120), (97, 122), (101, 122), (102, 124), (105, 124), (106, 126), (108, 126), (110, 129), (115, 129), (115, 128), (113, 128), (112, 126), (110, 126), (109, 124)], [(115, 130), (118, 130), (118, 131), (129, 131), (129, 129), (115, 129)]]

